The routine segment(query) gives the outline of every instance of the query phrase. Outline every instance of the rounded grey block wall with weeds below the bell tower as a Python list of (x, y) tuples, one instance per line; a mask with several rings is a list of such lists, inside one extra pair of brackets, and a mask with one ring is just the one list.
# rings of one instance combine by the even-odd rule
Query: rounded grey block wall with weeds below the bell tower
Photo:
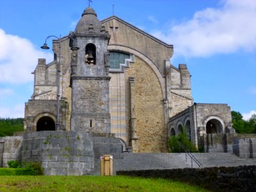
[(41, 162), (45, 175), (88, 175), (94, 169), (92, 134), (40, 131), (24, 134), (22, 162)]

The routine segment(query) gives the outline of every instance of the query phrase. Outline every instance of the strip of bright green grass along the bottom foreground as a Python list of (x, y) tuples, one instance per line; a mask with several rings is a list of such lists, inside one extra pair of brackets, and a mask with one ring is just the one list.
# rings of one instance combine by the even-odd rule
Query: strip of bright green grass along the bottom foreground
[(100, 176), (0, 176), (0, 191), (206, 191), (164, 179)]

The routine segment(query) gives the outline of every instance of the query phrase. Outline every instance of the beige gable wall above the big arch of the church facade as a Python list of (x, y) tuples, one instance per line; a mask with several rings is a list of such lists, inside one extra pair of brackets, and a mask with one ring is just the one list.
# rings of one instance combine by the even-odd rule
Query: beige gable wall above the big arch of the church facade
[(173, 45), (165, 44), (116, 17), (102, 20), (101, 23), (111, 35), (109, 45), (125, 45), (143, 53), (155, 63), (161, 74), (164, 74), (164, 59), (172, 57)]

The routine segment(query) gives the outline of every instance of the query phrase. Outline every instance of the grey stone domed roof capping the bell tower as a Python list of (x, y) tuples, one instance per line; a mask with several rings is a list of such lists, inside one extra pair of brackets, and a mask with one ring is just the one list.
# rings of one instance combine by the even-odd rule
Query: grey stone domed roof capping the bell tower
[(82, 14), (82, 18), (77, 23), (76, 34), (100, 33), (101, 24), (97, 18), (97, 13), (88, 6)]

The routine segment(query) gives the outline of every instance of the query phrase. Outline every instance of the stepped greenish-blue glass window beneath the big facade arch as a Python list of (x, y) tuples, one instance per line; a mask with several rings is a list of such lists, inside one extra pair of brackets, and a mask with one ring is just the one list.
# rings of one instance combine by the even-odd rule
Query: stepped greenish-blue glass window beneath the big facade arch
[(125, 59), (129, 59), (130, 55), (123, 52), (110, 52), (109, 65), (110, 68), (120, 68), (120, 64), (125, 64)]

